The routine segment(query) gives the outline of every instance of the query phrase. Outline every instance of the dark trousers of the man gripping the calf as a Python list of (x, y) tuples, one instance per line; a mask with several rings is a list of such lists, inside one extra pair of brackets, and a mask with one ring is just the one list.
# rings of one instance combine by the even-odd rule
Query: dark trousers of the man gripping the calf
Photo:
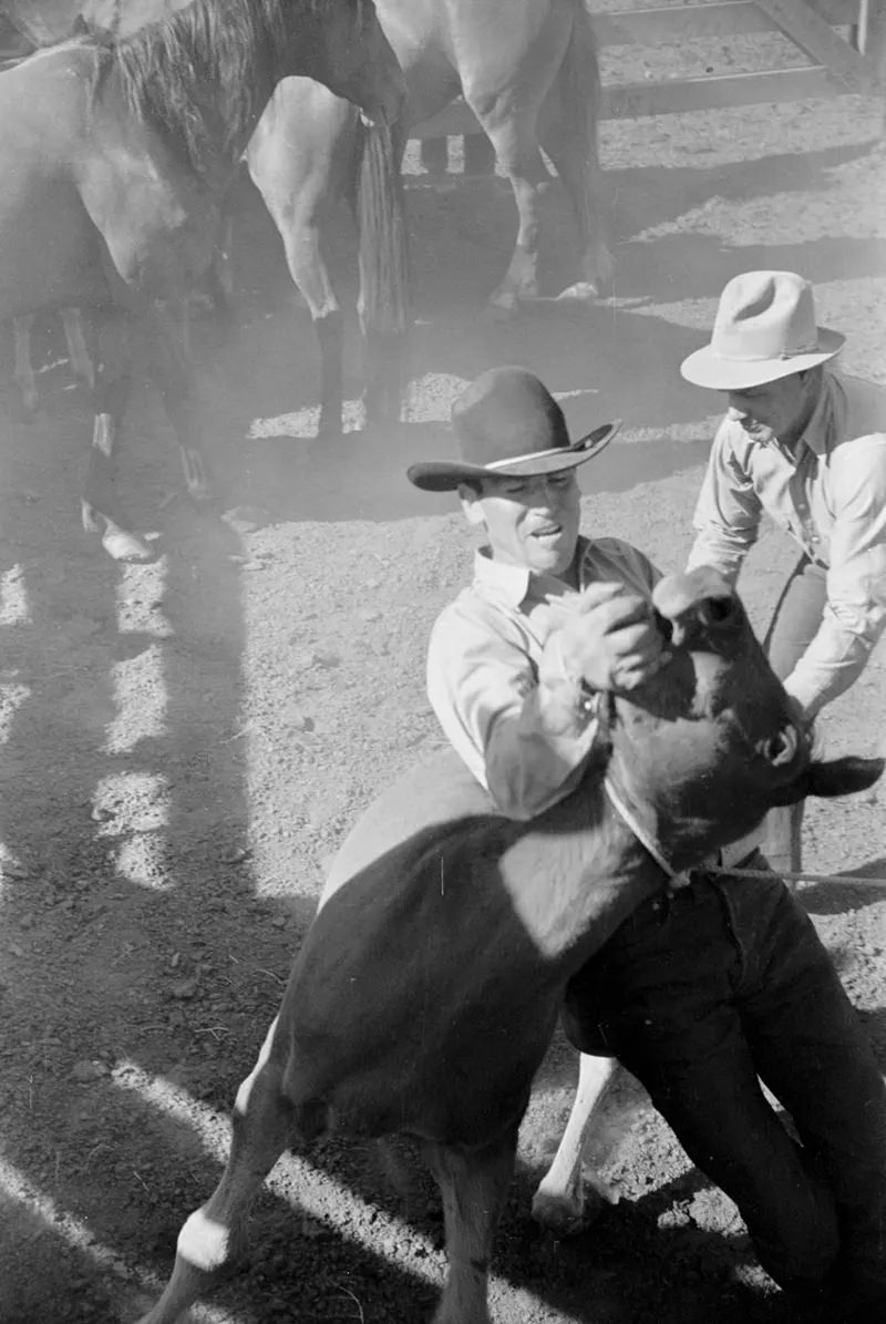
[[(767, 867), (759, 853), (747, 863)], [(837, 1280), (848, 1300), (886, 1307), (886, 1086), (779, 878), (699, 878), (645, 902), (571, 981), (564, 1026), (641, 1080), (777, 1283)]]

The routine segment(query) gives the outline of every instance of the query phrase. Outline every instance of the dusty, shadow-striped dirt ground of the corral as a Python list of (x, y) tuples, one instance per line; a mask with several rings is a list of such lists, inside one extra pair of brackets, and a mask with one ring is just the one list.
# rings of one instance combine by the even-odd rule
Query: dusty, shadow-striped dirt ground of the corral
[[(425, 639), (471, 543), (449, 500), (411, 489), (404, 467), (449, 453), (453, 395), (517, 361), (562, 393), (575, 428), (621, 414), (618, 442), (583, 471), (584, 527), (679, 568), (718, 402), (677, 367), (728, 277), (805, 273), (821, 320), (850, 335), (846, 365), (886, 380), (877, 122), (875, 106), (844, 98), (604, 126), (616, 297), (540, 303), (506, 326), (481, 316), (514, 233), (503, 183), (453, 179), (440, 192), (413, 180), (411, 417), (324, 455), (307, 445), (307, 316), (246, 192), (233, 339), (197, 336), (217, 467), (273, 515), (244, 540), (167, 499), (177, 462), (147, 392), (121, 478), (136, 526), (156, 534), (146, 567), (111, 564), (79, 531), (86, 418), (64, 367), (41, 379), (37, 422), (1, 416), (4, 1324), (138, 1315), (217, 1178), (226, 1110), (326, 861), (376, 789), (438, 741)], [(547, 211), (556, 290), (571, 253), (556, 189)], [(347, 254), (344, 224), (338, 246)], [(756, 622), (791, 557), (767, 532), (742, 580)], [(821, 723), (828, 747), (873, 752), (885, 696), (881, 649)], [(886, 876), (883, 801), (812, 804), (807, 862)], [(803, 899), (886, 1064), (886, 891), (822, 883)], [(777, 1320), (734, 1209), (630, 1080), (612, 1110), (625, 1133), (601, 1151), (620, 1204), (569, 1242), (536, 1230), (531, 1192), (573, 1078), (558, 1042), (498, 1241), (499, 1324)], [(444, 1271), (433, 1200), (404, 1219), (359, 1145), (282, 1161), (254, 1245), (248, 1271), (197, 1317), (411, 1324), (430, 1313)]]

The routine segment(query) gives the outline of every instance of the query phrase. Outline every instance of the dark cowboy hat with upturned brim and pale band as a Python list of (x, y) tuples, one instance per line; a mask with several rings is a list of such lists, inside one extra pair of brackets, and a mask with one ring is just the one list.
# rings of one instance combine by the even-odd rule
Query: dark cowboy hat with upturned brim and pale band
[(559, 404), (524, 368), (491, 368), (481, 373), (452, 406), (460, 461), (412, 465), (409, 482), (441, 493), (477, 478), (534, 478), (573, 469), (599, 455), (621, 420), (569, 441)]

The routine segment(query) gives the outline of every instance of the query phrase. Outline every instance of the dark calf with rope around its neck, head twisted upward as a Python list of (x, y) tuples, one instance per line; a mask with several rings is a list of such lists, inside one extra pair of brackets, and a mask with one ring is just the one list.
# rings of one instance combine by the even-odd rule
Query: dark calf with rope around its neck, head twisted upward
[(677, 884), (662, 863), (679, 875), (773, 805), (861, 790), (883, 769), (813, 756), (716, 572), (662, 580), (654, 605), (670, 658), (605, 695), (592, 763), (559, 805), (503, 818), (445, 751), (376, 808), (381, 838), (369, 828), (346, 843), (237, 1091), (221, 1181), (181, 1227), (140, 1324), (172, 1324), (212, 1287), (245, 1250), (250, 1202), (282, 1151), (330, 1132), (417, 1139), (444, 1204), (436, 1324), (489, 1324), (518, 1127), (571, 976)]

